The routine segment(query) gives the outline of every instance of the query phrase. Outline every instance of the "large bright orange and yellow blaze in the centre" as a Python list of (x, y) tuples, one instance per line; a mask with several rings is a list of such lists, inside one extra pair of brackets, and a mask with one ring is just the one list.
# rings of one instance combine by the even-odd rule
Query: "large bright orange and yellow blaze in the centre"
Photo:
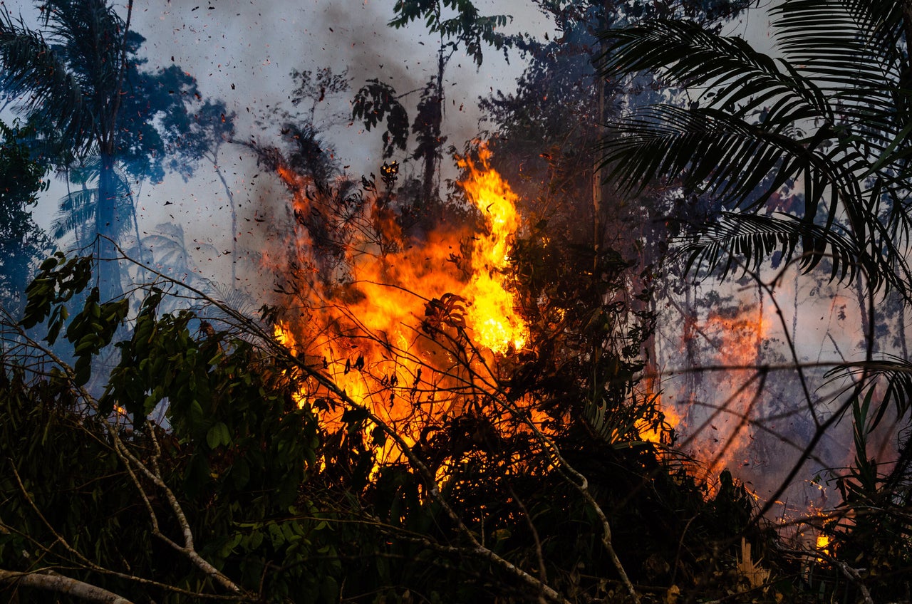
[[(362, 222), (377, 232), (375, 243), (348, 245), (346, 278), (315, 279), (300, 318), (275, 327), (275, 338), (409, 446), (427, 436), (428, 426), (470, 412), (467, 405), (492, 393), (495, 355), (521, 349), (527, 339), (504, 276), (513, 234), (521, 227), (517, 200), (489, 157), (482, 148), (480, 165), (460, 161), (468, 174), (461, 185), (481, 214), (481, 233), (445, 226), (406, 242), (395, 220), (383, 219), (389, 208), (376, 204)], [(295, 213), (314, 211), (319, 200), (306, 179), (281, 163), (276, 172), (295, 193)], [(308, 234), (301, 231), (290, 247), (303, 256), (296, 259), (299, 266), (313, 266)], [(399, 245), (384, 249), (377, 241)], [(465, 241), (472, 242), (471, 257), (461, 258)], [(474, 347), (465, 346), (464, 338)], [(298, 396), (299, 404), (320, 409), (328, 429), (342, 427), (345, 410), (327, 402), (331, 397), (316, 380), (306, 380)], [(388, 440), (378, 460), (399, 455)]]

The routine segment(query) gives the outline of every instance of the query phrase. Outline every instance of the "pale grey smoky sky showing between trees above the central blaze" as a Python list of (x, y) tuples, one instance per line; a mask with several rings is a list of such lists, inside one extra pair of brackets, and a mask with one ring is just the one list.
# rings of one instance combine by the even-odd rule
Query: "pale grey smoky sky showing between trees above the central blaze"
[[(126, 0), (115, 0), (126, 16)], [(146, 68), (176, 64), (196, 78), (204, 98), (222, 99), (233, 110), (235, 139), (275, 142), (269, 124), (257, 125), (276, 104), (292, 109), (293, 89), (289, 74), (322, 67), (347, 70), (351, 87), (346, 95), (326, 99), (317, 120), (333, 112), (342, 120), (327, 131), (337, 157), (349, 172), (377, 172), (381, 131), (364, 132), (348, 123), (349, 101), (367, 78), (380, 78), (398, 91), (422, 88), (436, 72), (437, 39), (428, 36), (422, 23), (404, 29), (387, 26), (395, 0), (136, 0), (131, 28), (147, 38), (142, 54)], [(6, 0), (14, 13), (35, 23), (32, 0)], [(550, 29), (530, 0), (475, 3), (483, 15), (516, 16), (509, 31), (541, 36)], [(482, 67), (456, 55), (446, 71), (446, 118), (448, 143), (461, 148), (478, 130), (479, 96), (496, 89), (511, 89), (522, 71), (522, 61), (513, 55), (508, 63), (503, 53), (485, 52)], [(410, 99), (417, 101), (418, 94)], [(400, 160), (402, 158), (399, 158)], [(258, 178), (261, 172), (251, 151), (240, 145), (224, 145), (221, 168), (242, 216), (241, 226), (254, 219), (274, 216), (285, 203), (286, 193), (273, 179)], [(415, 168), (418, 170), (418, 168)], [(449, 173), (452, 173), (450, 168)], [(255, 179), (255, 180), (254, 180)], [(58, 200), (66, 193), (63, 182), (53, 183), (36, 212), (47, 228), (57, 213)], [(134, 195), (141, 234), (154, 232), (157, 224), (180, 224), (203, 275), (224, 280), (231, 248), (230, 210), (223, 184), (212, 165), (201, 162), (190, 182), (168, 175), (165, 182), (137, 183)], [(255, 229), (242, 232), (239, 244), (251, 245)]]

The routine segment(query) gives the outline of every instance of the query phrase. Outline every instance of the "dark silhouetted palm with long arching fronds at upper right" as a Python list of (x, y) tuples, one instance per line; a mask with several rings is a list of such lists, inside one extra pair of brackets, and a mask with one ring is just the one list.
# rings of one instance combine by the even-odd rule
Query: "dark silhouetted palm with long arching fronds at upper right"
[[(607, 77), (648, 70), (698, 95), (609, 125), (608, 178), (631, 192), (666, 177), (713, 200), (692, 263), (727, 273), (779, 251), (810, 270), (826, 257), (831, 278), (860, 270), (912, 300), (912, 2), (783, 0), (771, 12), (776, 57), (689, 21), (606, 32)], [(773, 213), (786, 185), (803, 202)]]

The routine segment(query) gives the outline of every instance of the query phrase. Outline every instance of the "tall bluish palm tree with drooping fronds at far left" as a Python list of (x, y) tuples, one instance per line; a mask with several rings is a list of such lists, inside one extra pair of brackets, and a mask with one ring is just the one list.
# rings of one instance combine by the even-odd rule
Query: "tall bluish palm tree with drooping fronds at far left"
[(19, 100), (17, 109), (29, 120), (52, 132), (62, 155), (98, 157), (98, 285), (103, 298), (118, 297), (119, 264), (111, 259), (118, 255), (116, 237), (126, 216), (115, 166), (133, 2), (128, 2), (126, 21), (106, 0), (36, 0), (36, 5), (39, 31), (14, 18), (6, 6), (0, 9), (0, 86)]

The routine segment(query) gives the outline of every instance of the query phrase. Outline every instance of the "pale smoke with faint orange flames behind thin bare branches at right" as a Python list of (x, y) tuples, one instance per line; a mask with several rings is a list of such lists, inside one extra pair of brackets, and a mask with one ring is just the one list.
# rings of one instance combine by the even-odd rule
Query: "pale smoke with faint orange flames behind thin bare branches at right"
[[(795, 268), (784, 274), (764, 271), (764, 283), (779, 277), (773, 297), (749, 279), (721, 286), (710, 279), (666, 306), (657, 337), (663, 402), (679, 415), (679, 445), (703, 468), (710, 488), (719, 472), (729, 469), (765, 503), (793, 470), (815, 426), (846, 400), (851, 382), (825, 374), (839, 363), (865, 358), (866, 297), (857, 287), (828, 283), (826, 276)], [(700, 298), (710, 304), (695, 303)], [(888, 302), (876, 302), (886, 325), (875, 350), (905, 358), (907, 318), (891, 315)], [(684, 308), (693, 309), (687, 318)], [(804, 385), (793, 369), (796, 360)], [(882, 463), (895, 459), (899, 428), (895, 412), (887, 411), (869, 436), (868, 456)], [(849, 414), (824, 432), (777, 498), (771, 517), (788, 523), (838, 505), (834, 479), (854, 458)], [(890, 467), (885, 463), (881, 471)]]

